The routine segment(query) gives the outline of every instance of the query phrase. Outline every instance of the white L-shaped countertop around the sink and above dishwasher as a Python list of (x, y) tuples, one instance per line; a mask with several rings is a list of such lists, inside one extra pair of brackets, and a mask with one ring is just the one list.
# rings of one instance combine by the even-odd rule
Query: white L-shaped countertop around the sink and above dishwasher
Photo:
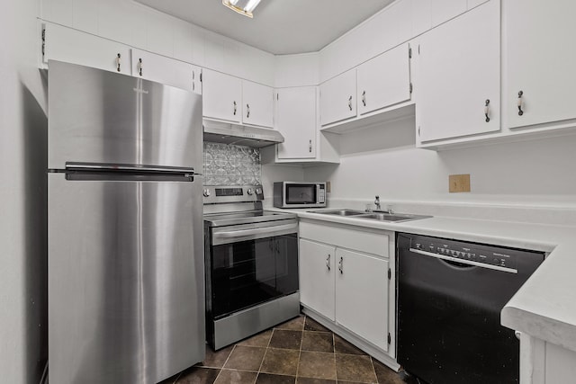
[(320, 219), (549, 253), (545, 262), (502, 309), (501, 323), (576, 351), (576, 246), (572, 246), (576, 227), (448, 217), (391, 223), (322, 215), (307, 210), (289, 211), (302, 219)]

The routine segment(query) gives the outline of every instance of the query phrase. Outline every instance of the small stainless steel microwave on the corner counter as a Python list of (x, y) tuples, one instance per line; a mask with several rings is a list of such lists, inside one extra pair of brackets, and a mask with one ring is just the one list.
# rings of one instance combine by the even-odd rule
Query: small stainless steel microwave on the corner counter
[(277, 208), (326, 207), (326, 183), (274, 183), (274, 206)]

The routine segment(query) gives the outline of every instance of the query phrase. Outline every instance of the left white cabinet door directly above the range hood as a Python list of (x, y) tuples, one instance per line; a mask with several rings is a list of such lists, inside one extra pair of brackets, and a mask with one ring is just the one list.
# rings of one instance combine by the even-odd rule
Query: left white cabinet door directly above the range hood
[(223, 121), (242, 119), (242, 82), (210, 69), (202, 71), (202, 114)]

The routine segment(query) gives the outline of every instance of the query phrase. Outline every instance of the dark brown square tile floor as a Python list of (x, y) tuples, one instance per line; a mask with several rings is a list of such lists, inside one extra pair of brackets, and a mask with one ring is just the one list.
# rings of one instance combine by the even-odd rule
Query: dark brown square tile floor
[(161, 384), (353, 384), (404, 381), (310, 317), (300, 316), (218, 352)]

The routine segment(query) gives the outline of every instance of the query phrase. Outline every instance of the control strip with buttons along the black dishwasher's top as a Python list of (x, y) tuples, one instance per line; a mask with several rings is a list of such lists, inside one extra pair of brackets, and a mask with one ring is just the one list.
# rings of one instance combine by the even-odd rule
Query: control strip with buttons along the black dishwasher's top
[(516, 269), (516, 255), (514, 255), (515, 250), (513, 249), (474, 245), (440, 238), (430, 239), (430, 237), (416, 237), (412, 239), (412, 242), (412, 249), (430, 254)]

